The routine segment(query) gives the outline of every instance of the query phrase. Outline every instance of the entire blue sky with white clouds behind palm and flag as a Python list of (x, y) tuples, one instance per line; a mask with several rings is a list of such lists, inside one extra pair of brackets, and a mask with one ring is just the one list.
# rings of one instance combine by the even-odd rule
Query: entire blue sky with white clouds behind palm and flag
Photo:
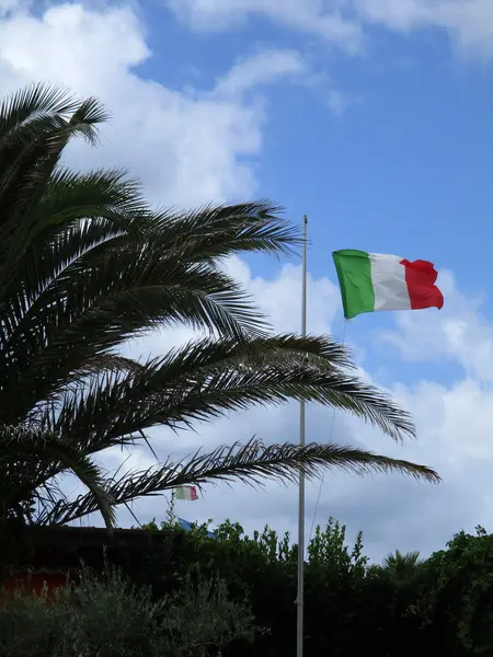
[[(73, 166), (127, 166), (159, 204), (270, 197), (293, 221), (306, 212), (310, 332), (344, 334), (333, 250), (433, 261), (442, 311), (345, 327), (368, 377), (414, 413), (417, 441), (399, 447), (311, 406), (307, 438), (433, 465), (444, 482), (328, 472), (318, 506), (319, 483), (308, 487), (307, 534), (333, 515), (380, 558), (493, 529), (491, 0), (0, 0), (0, 92), (33, 80), (96, 95), (113, 115), (100, 149), (71, 148)], [(277, 330), (298, 330), (299, 262), (230, 266)], [(163, 354), (184, 337), (153, 334), (129, 350)], [(154, 431), (154, 448), (297, 440), (297, 422), (296, 405), (252, 411), (193, 434)], [(296, 533), (296, 488), (206, 487), (177, 504), (187, 519)], [(134, 511), (146, 521), (165, 508), (158, 498)]]

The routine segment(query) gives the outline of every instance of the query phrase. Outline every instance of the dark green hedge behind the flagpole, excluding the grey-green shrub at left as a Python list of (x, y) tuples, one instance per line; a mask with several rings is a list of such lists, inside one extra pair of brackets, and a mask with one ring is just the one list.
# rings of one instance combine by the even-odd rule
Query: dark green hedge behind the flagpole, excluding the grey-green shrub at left
[[(219, 573), (232, 596), (249, 597), (259, 627), (254, 644), (225, 655), (294, 656), (297, 546), (289, 534), (265, 527), (249, 538), (227, 521), (211, 539), (209, 525), (183, 534), (173, 518), (150, 523), (149, 530), (169, 532), (169, 549), (148, 555), (136, 576), (162, 595), (179, 585), (185, 564)], [(345, 527), (331, 518), (310, 540), (305, 577), (307, 657), (432, 657), (437, 649), (450, 657), (493, 655), (493, 535), (482, 528), (477, 535), (460, 532), (426, 560), (395, 551), (379, 565), (364, 554), (360, 533), (348, 546)]]

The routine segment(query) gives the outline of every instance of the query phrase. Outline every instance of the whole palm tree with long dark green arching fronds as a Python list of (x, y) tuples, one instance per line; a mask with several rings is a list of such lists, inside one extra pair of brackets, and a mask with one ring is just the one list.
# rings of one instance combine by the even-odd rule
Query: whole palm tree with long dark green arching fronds
[[(32, 85), (0, 105), (0, 519), (66, 523), (177, 485), (295, 479), (329, 465), (425, 466), (335, 445), (221, 447), (145, 472), (105, 473), (96, 456), (254, 404), (306, 400), (346, 410), (394, 439), (410, 416), (352, 372), (329, 337), (272, 335), (221, 258), (290, 254), (300, 234), (268, 201), (154, 210), (125, 172), (76, 173), (60, 158), (95, 143), (94, 99)], [(129, 338), (186, 324), (202, 336), (161, 358), (122, 356)], [(77, 499), (58, 485), (72, 472)]]

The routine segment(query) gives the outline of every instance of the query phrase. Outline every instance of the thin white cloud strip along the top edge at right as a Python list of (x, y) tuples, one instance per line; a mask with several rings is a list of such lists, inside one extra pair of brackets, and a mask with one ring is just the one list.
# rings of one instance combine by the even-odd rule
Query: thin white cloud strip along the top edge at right
[(491, 0), (168, 0), (195, 28), (236, 26), (251, 15), (308, 32), (360, 53), (370, 24), (399, 32), (436, 27), (468, 55), (493, 56)]

